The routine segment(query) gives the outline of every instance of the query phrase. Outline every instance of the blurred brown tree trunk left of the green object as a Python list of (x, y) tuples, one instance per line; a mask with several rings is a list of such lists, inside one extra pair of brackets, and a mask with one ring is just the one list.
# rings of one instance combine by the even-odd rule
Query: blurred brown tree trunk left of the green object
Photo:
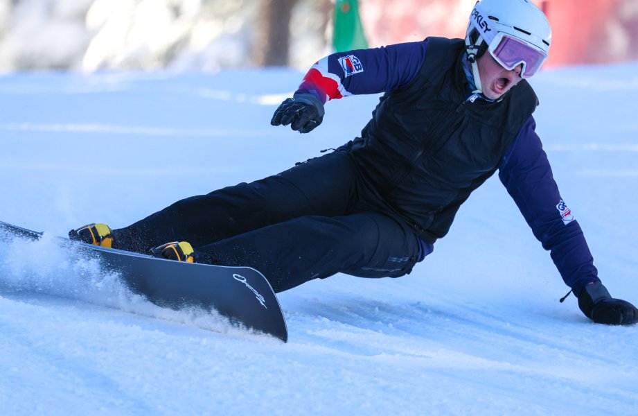
[(253, 61), (259, 67), (285, 67), (290, 49), (290, 18), (297, 0), (260, 0)]

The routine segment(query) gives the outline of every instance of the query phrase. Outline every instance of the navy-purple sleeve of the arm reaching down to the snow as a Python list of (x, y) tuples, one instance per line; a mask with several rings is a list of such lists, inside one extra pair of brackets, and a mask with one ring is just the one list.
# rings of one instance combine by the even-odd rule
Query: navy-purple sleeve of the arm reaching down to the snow
[(530, 118), (506, 151), (499, 178), (516, 202), (534, 236), (549, 250), (567, 286), (578, 295), (591, 281), (599, 281), (587, 241), (560, 197), (547, 155)]

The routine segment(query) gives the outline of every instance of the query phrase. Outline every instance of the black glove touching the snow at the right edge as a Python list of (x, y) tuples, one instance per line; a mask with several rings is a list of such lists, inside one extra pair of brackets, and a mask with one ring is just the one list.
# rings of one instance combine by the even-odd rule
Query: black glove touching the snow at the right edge
[(638, 322), (638, 309), (614, 299), (600, 281), (585, 285), (578, 295), (578, 307), (597, 324), (630, 325)]

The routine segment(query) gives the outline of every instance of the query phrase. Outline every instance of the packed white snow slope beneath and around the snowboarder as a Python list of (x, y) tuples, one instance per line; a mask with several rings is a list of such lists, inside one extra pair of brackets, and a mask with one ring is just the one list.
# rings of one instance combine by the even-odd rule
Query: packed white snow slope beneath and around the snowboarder
[[(638, 303), (638, 63), (545, 71), (538, 133), (612, 295)], [(57, 247), (90, 222), (278, 173), (352, 139), (378, 96), (274, 128), (301, 73), (0, 77), (4, 415), (630, 415), (638, 327), (593, 324), (497, 177), (411, 275), (281, 293), (290, 342), (160, 309)]]

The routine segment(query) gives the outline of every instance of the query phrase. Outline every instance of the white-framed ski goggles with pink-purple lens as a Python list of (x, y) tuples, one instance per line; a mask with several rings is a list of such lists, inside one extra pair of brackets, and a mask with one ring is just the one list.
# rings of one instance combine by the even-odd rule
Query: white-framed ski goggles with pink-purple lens
[(491, 40), (488, 51), (502, 67), (511, 71), (520, 64), (522, 78), (531, 78), (540, 70), (547, 53), (517, 37), (499, 32)]

